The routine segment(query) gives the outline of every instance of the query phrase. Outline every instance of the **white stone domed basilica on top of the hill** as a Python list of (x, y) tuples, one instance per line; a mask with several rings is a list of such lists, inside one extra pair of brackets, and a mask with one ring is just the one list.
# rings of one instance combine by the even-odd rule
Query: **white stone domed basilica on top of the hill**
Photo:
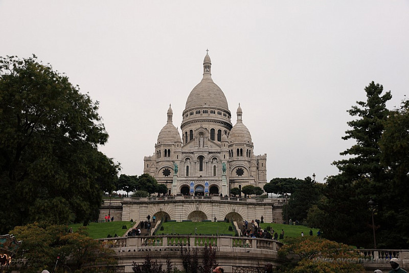
[(190, 92), (179, 131), (172, 123), (169, 107), (166, 125), (155, 144), (155, 153), (144, 157), (144, 173), (169, 194), (230, 194), (230, 189), (267, 183), (267, 154), (254, 155), (252, 137), (237, 108), (237, 122), (222, 90), (211, 77), (208, 54), (203, 61), (203, 78)]

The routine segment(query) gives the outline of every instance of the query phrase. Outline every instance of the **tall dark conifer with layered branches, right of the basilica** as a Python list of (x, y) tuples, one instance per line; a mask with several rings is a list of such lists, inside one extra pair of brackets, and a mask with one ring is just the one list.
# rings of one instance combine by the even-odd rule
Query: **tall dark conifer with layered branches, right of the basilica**
[(383, 93), (380, 84), (371, 82), (365, 87), (366, 101), (358, 101), (348, 110), (356, 119), (348, 122), (344, 140), (354, 140), (351, 148), (340, 153), (348, 158), (333, 163), (340, 173), (327, 179), (324, 202), (326, 215), (320, 224), (328, 239), (348, 244), (371, 246), (370, 197), (385, 187), (384, 168), (380, 164), (379, 141), (388, 118), (386, 103), (392, 98)]

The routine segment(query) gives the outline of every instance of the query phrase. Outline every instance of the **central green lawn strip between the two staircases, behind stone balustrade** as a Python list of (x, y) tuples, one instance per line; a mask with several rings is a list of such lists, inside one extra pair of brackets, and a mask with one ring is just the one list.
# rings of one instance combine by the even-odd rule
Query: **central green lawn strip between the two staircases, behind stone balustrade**
[(197, 234), (201, 235), (235, 235), (229, 231), (231, 223), (226, 222), (166, 222), (162, 225), (163, 231), (157, 231), (157, 235), (163, 234)]

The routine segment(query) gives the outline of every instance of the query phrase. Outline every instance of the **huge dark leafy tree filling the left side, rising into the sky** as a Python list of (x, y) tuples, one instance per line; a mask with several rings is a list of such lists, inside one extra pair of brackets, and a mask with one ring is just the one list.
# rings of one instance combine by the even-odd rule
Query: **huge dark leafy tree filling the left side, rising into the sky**
[(0, 233), (47, 219), (94, 219), (119, 165), (98, 151), (108, 139), (98, 102), (52, 66), (0, 57)]

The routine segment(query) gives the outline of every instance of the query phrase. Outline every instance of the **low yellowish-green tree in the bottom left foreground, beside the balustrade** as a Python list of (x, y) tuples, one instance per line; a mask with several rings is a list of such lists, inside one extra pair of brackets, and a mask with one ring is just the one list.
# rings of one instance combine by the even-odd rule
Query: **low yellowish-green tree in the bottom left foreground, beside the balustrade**
[[(95, 264), (116, 264), (112, 250), (103, 243), (87, 236), (86, 227), (71, 233), (66, 225), (49, 225), (45, 222), (16, 226), (12, 231), (21, 246), (15, 257), (20, 261), (19, 272), (51, 271), (58, 267), (75, 272), (109, 272), (108, 268), (83, 268), (92, 261)], [(57, 268), (58, 269), (58, 268)], [(60, 270), (57, 270), (60, 272)], [(61, 269), (62, 272), (62, 269)]]

